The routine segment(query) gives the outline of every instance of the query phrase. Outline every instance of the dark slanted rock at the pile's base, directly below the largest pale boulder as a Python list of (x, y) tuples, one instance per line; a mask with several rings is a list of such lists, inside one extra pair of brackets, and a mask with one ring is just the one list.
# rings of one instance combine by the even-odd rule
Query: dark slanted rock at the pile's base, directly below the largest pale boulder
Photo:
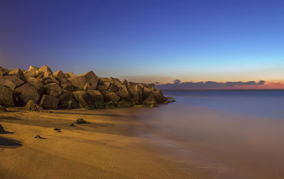
[(79, 102), (80, 107), (84, 107), (86, 109), (95, 109), (94, 101), (92, 97), (84, 91), (76, 91), (73, 92), (74, 98)]

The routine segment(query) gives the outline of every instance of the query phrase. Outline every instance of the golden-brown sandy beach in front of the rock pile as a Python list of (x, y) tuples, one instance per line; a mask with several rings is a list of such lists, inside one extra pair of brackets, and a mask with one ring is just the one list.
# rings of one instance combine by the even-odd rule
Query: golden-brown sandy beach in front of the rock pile
[[(138, 135), (151, 132), (136, 120), (140, 110), (9, 109), (0, 114), (9, 132), (0, 134), (0, 178), (195, 178)], [(78, 118), (90, 124), (70, 126)]]

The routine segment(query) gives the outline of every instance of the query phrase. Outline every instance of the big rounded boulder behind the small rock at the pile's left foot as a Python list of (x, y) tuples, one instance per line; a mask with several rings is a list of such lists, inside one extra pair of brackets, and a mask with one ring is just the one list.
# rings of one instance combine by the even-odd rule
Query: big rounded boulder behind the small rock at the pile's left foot
[(17, 87), (13, 94), (17, 106), (26, 105), (30, 100), (33, 100), (35, 104), (38, 104), (40, 100), (38, 89), (28, 83), (21, 87)]

